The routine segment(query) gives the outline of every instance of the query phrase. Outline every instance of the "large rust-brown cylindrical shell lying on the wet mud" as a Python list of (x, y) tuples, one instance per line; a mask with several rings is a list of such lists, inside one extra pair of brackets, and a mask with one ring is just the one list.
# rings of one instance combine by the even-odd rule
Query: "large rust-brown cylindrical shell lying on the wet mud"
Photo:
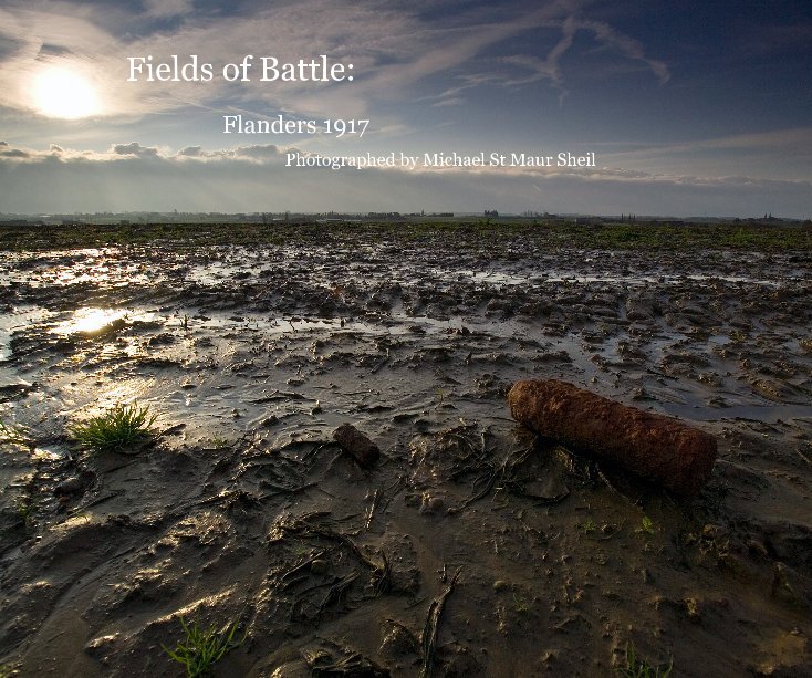
[(698, 494), (716, 461), (714, 436), (566, 382), (517, 382), (508, 403), (513, 418), (537, 434), (608, 459), (680, 497)]

